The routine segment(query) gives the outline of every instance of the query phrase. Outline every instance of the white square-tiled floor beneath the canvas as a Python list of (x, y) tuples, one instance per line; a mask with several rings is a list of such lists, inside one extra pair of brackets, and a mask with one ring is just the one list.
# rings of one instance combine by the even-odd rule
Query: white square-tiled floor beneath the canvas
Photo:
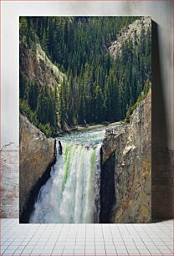
[(8, 218), (0, 222), (0, 255), (173, 255), (173, 221), (19, 224)]

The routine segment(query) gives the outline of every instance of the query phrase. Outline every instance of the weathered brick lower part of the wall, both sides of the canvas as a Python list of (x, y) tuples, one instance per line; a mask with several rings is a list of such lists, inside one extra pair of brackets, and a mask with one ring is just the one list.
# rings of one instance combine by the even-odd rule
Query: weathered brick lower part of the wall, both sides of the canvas
[[(18, 151), (1, 151), (0, 218), (18, 218)], [(174, 151), (152, 151), (152, 218), (174, 218)]]

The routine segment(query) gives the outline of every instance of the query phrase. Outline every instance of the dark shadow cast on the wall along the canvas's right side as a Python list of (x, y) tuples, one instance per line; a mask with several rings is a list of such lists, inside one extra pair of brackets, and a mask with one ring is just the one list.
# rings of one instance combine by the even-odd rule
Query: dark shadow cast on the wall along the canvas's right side
[(151, 113), (151, 214), (152, 221), (173, 218), (172, 184), (174, 152), (168, 149), (166, 125), (165, 84), (161, 79), (161, 56), (158, 25), (152, 21), (152, 113)]

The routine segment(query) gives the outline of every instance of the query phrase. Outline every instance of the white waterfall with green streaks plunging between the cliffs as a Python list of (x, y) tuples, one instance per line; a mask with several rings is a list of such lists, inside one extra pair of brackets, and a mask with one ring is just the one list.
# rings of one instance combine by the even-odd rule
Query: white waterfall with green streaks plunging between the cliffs
[(100, 144), (62, 145), (63, 154), (38, 193), (30, 223), (99, 223)]

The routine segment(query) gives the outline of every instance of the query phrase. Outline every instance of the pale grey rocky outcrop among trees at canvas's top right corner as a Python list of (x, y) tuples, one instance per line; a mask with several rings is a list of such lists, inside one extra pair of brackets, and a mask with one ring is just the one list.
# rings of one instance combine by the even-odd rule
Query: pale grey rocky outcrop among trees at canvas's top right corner
[(141, 38), (142, 29), (144, 29), (146, 33), (148, 28), (151, 28), (150, 17), (136, 19), (136, 21), (131, 23), (128, 28), (123, 28), (121, 35), (117, 35), (118, 38), (110, 45), (110, 55), (115, 59), (119, 54), (121, 54), (122, 45), (127, 40), (131, 40), (134, 44), (138, 44)]

